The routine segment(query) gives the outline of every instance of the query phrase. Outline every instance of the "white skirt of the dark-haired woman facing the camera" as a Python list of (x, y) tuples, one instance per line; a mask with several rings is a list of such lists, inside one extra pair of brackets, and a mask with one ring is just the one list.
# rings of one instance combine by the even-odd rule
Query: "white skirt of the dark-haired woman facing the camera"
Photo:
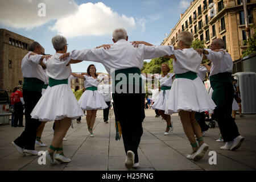
[(108, 107), (104, 97), (98, 90), (85, 90), (78, 103), (83, 110), (99, 110)]

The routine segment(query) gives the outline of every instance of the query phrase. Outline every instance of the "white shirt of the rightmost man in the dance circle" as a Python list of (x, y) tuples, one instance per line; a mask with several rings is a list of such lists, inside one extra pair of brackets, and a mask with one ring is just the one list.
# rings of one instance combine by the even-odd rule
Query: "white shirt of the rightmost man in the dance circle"
[(209, 52), (209, 55), (205, 55), (207, 59), (212, 61), (212, 67), (210, 68), (210, 75), (213, 76), (218, 73), (225, 73), (225, 72), (232, 72), (233, 71), (233, 61), (232, 57), (229, 55), (228, 52), (222, 51), (215, 52), (211, 49), (206, 49)]

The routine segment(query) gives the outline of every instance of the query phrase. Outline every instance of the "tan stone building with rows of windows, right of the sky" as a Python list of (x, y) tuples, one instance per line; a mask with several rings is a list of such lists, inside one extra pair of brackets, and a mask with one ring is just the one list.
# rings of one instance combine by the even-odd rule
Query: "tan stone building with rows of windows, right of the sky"
[[(240, 59), (242, 51), (246, 49), (245, 16), (242, 0), (195, 0), (180, 15), (180, 20), (162, 45), (177, 46), (177, 34), (190, 31), (194, 40), (204, 40), (206, 48), (210, 47), (213, 39), (221, 38), (226, 43), (226, 51), (233, 60)], [(256, 0), (246, 0), (249, 26), (256, 23)], [(254, 30), (251, 28), (250, 34)]]

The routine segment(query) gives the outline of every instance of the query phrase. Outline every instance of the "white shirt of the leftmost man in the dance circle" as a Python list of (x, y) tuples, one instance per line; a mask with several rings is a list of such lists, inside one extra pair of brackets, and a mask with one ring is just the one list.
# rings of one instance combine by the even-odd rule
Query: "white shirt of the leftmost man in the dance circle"
[(29, 51), (26, 56), (22, 59), (21, 69), (22, 75), (25, 78), (38, 78), (44, 82), (44, 71), (40, 64), (40, 59), (43, 55), (31, 55), (28, 58), (28, 55), (32, 53)]

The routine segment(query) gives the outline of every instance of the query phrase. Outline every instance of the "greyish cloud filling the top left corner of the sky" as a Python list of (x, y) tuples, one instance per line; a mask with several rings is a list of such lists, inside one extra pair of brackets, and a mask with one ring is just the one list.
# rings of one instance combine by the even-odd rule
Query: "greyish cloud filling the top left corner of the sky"
[[(39, 17), (39, 3), (46, 5), (46, 16)], [(0, 1), (0, 23), (7, 27), (31, 29), (49, 20), (75, 13), (78, 5), (74, 0), (8, 0)]]

